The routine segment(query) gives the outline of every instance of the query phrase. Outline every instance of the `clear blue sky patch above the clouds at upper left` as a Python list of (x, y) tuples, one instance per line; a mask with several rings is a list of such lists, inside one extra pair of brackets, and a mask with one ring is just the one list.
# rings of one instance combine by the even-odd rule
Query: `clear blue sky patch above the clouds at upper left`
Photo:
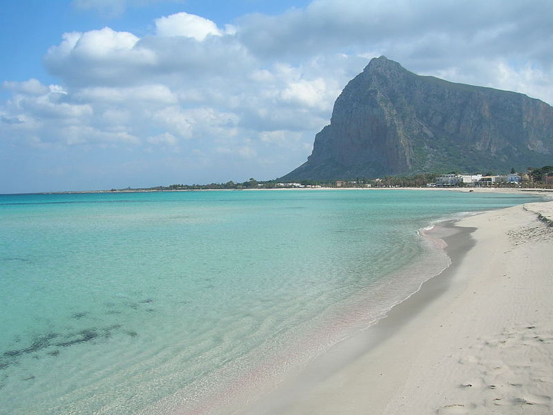
[(41, 65), (50, 46), (65, 32), (87, 31), (109, 26), (135, 35), (147, 35), (153, 20), (185, 10), (208, 17), (220, 26), (254, 12), (278, 15), (308, 1), (293, 0), (174, 0), (174, 1), (3, 1), (0, 11), (0, 52), (10, 57), (0, 66), (0, 80), (25, 81), (39, 77), (55, 82)]

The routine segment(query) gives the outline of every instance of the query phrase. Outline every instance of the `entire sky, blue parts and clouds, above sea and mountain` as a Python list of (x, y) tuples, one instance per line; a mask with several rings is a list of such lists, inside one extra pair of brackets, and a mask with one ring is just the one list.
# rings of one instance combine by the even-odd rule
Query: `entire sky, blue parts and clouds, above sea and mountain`
[(0, 193), (287, 174), (373, 57), (553, 104), (551, 0), (3, 0)]

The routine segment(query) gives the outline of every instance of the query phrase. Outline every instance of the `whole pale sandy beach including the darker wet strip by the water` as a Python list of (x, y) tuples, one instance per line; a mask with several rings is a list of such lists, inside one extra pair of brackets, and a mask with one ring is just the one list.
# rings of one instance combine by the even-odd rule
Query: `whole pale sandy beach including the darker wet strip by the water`
[(553, 413), (552, 219), (547, 201), (436, 227), (447, 270), (245, 413)]

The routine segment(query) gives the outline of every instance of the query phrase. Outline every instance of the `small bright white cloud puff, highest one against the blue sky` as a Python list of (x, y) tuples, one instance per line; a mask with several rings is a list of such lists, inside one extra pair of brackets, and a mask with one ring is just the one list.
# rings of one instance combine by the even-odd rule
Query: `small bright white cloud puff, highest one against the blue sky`
[(221, 36), (221, 31), (211, 20), (180, 12), (156, 19), (156, 34), (165, 37), (194, 37), (194, 39), (201, 42), (208, 35)]

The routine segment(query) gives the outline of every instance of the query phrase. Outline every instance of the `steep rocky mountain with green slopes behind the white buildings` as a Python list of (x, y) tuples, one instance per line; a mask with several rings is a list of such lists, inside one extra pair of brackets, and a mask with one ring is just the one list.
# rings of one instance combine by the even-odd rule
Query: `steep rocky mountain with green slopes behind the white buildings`
[(337, 98), (306, 163), (283, 181), (553, 164), (553, 107), (521, 93), (415, 75), (381, 56)]

